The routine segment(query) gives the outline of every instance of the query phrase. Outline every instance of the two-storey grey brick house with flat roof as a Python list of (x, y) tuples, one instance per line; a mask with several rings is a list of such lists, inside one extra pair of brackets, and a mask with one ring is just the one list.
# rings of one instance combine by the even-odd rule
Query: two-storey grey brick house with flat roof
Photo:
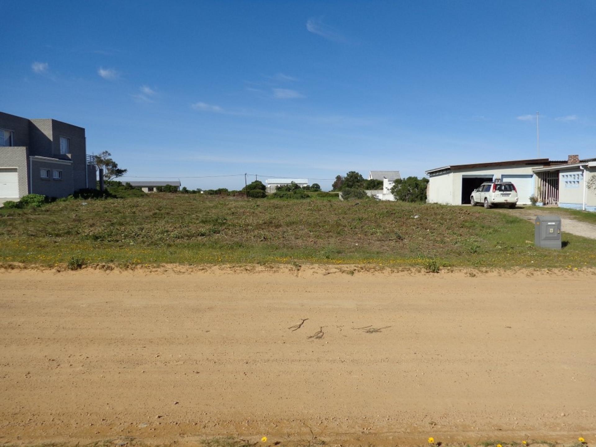
[(95, 188), (85, 129), (54, 119), (0, 112), (0, 200), (27, 194), (66, 197)]

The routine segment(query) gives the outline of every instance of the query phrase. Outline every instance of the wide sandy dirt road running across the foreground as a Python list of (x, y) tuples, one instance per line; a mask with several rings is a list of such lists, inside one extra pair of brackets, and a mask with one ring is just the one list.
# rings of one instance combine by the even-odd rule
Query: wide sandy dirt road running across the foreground
[(593, 271), (1, 272), (0, 442), (589, 439), (595, 286)]

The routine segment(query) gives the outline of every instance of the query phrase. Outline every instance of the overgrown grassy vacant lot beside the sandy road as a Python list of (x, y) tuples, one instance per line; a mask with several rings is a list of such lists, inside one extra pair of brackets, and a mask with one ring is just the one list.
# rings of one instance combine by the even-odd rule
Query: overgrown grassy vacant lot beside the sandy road
[(151, 194), (0, 210), (0, 262), (371, 263), (581, 268), (596, 241), (533, 246), (531, 222), (471, 207)]

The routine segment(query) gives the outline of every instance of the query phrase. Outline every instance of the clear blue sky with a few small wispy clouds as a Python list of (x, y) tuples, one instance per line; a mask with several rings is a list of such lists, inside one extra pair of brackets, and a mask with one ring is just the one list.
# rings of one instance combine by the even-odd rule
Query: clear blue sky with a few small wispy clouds
[(0, 5), (0, 110), (86, 128), (126, 179), (532, 158), (536, 111), (541, 156), (596, 157), (595, 1)]

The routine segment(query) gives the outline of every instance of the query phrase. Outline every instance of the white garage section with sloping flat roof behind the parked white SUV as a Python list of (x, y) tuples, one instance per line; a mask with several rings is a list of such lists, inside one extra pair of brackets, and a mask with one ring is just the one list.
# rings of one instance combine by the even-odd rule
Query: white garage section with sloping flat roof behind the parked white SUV
[[(558, 162), (560, 163), (560, 162)], [(500, 179), (516, 185), (518, 204), (530, 204), (535, 194), (533, 169), (550, 166), (548, 159), (511, 160), (509, 162), (453, 164), (429, 169), (427, 201), (446, 205), (470, 203), (470, 195), (484, 182)]]

